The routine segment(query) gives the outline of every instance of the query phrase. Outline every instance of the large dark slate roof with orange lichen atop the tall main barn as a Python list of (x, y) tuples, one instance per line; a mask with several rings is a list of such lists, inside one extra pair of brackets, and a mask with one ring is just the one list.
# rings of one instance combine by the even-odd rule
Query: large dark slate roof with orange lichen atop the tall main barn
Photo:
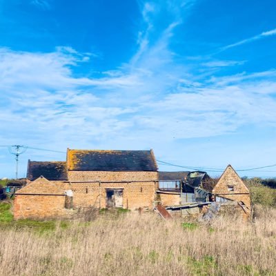
[(157, 171), (152, 150), (70, 150), (68, 170)]

